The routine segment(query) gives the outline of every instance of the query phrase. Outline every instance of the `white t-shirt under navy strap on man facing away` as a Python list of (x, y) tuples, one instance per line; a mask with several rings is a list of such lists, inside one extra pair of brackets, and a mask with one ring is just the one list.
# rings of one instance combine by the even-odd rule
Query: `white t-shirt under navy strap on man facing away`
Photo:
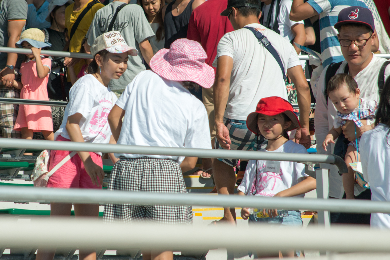
[[(287, 69), (301, 65), (293, 45), (282, 36), (259, 23), (246, 26), (259, 30), (268, 38), (282, 60), (285, 73)], [(246, 120), (263, 97), (278, 96), (288, 99), (278, 62), (259, 43), (253, 32), (242, 28), (223, 35), (217, 46), (214, 67), (217, 59), (224, 55), (233, 58), (226, 118)]]

